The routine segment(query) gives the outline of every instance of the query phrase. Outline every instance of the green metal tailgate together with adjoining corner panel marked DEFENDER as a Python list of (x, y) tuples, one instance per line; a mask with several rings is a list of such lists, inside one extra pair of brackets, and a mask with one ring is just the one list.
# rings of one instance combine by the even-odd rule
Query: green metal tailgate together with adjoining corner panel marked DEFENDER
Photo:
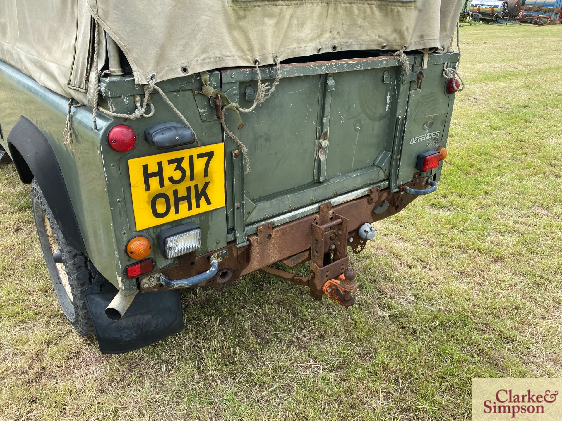
[[(283, 65), (274, 94), (242, 115), (237, 135), (248, 147), (249, 173), (233, 155), (237, 145), (225, 138), (226, 186), (233, 192), (226, 197), (228, 227), (238, 231), (239, 242), (252, 234), (243, 234), (243, 225), (361, 187), (396, 190), (411, 181), (417, 154), (446, 139), (452, 95), (442, 72), (443, 63), (454, 61), (456, 54), (430, 55), (421, 84), (415, 74), (421, 55), (410, 56), (415, 72), (409, 75), (393, 56)], [(273, 82), (274, 67), (260, 71)], [(230, 99), (251, 106), (255, 69), (225, 70), (221, 79)], [(227, 112), (226, 124), (235, 129), (235, 113)], [(435, 133), (431, 145), (410, 140), (428, 133)]]

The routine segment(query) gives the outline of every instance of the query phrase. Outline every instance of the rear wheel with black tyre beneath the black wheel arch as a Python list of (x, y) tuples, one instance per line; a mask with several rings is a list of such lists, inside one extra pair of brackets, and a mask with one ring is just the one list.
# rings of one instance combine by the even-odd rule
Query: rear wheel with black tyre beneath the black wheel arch
[(92, 283), (97, 270), (85, 254), (68, 244), (35, 179), (31, 182), (31, 209), (62, 312), (80, 335), (93, 335), (84, 290)]

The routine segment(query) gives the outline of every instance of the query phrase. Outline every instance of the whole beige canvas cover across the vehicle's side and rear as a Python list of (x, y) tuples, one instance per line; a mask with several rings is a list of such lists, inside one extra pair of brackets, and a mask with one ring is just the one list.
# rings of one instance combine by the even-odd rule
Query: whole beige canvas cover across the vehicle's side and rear
[[(448, 51), (462, 0), (0, 0), (0, 60), (88, 102), (93, 19), (135, 81), (361, 49)], [(90, 86), (92, 84), (89, 84)]]

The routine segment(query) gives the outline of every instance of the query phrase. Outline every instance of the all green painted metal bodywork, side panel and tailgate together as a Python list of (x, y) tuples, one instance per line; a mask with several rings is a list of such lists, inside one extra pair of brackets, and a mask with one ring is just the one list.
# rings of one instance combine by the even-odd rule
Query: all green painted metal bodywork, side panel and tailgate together
[[(275, 92), (254, 112), (243, 113), (245, 127), (236, 130), (237, 119), (226, 112), (226, 125), (248, 147), (250, 172), (244, 173), (238, 145), (223, 135), (212, 100), (199, 93), (198, 75), (167, 80), (164, 90), (197, 133), (201, 145), (225, 144), (226, 207), (137, 231), (128, 176), (128, 160), (186, 147), (158, 151), (144, 141), (144, 129), (179, 118), (158, 94), (150, 118), (126, 122), (137, 135), (130, 152), (119, 153), (107, 143), (107, 132), (123, 120), (98, 112), (93, 130), (92, 110), (72, 109), (74, 144), (62, 142), (67, 102), (42, 88), (28, 76), (0, 62), (0, 124), (2, 145), (19, 119), (29, 118), (47, 137), (60, 164), (88, 255), (98, 270), (121, 290), (132, 292), (125, 267), (132, 263), (126, 242), (135, 235), (147, 236), (153, 249), (149, 257), (156, 269), (174, 260), (158, 249), (158, 232), (186, 222), (201, 227), (198, 254), (222, 248), (229, 241), (247, 244), (247, 235), (260, 223), (274, 225), (315, 212), (317, 204), (334, 204), (366, 194), (371, 186), (398, 185), (413, 179), (420, 152), (446, 144), (454, 95), (446, 94), (442, 76), (445, 63), (456, 62), (456, 53), (430, 54), (423, 70), (421, 89), (409, 78), (420, 70), (422, 56), (410, 56), (411, 70), (404, 75), (396, 57), (304, 63), (282, 67)], [(262, 68), (262, 79), (273, 83), (275, 68)], [(250, 107), (257, 90), (252, 68), (209, 72), (211, 85), (228, 97)], [(222, 80), (221, 80), (222, 79)], [(102, 78), (101, 104), (118, 113), (132, 113), (135, 95), (142, 86), (130, 76)], [(248, 95), (247, 95), (248, 93)], [(416, 136), (439, 131), (436, 138), (410, 143)], [(323, 143), (323, 140), (327, 141)], [(196, 147), (196, 144), (187, 148)], [(440, 168), (428, 172), (438, 178)], [(235, 204), (240, 203), (239, 207)]]

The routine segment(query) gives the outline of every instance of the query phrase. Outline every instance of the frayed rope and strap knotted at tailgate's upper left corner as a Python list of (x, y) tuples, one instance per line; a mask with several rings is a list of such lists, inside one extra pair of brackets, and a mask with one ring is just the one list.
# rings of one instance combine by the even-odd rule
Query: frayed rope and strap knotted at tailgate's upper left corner
[[(279, 82), (281, 80), (281, 61), (279, 60), (279, 57), (275, 57), (275, 66), (277, 67), (277, 76), (275, 76), (275, 80), (273, 81), (273, 84), (271, 85), (271, 88), (269, 88), (269, 82), (265, 83), (265, 84), (261, 83), (260, 61), (256, 60), (254, 63), (256, 65), (257, 92), (256, 92), (256, 98), (253, 100), (253, 104), (250, 108), (243, 108), (243, 107), (239, 106), (238, 103), (232, 102), (230, 100), (230, 98), (228, 98), (223, 92), (221, 92), (218, 89), (213, 88), (210, 85), (209, 73), (200, 72), (201, 81), (203, 83), (203, 87), (201, 89), (201, 94), (205, 95), (206, 97), (209, 97), (209, 98), (215, 97), (217, 94), (220, 95), (221, 100), (223, 100), (223, 102), (226, 104), (223, 111), (233, 110), (237, 113), (237, 115), (238, 115), (238, 130), (241, 130), (244, 127), (244, 123), (242, 122), (242, 117), (240, 116), (240, 113), (241, 112), (243, 112), (243, 113), (253, 112), (253, 110), (259, 104), (264, 102), (266, 99), (268, 99), (271, 96), (271, 94), (273, 94), (273, 91), (275, 91), (275, 88), (277, 87), (277, 85), (279, 84)], [(240, 139), (238, 139), (238, 136), (236, 136), (232, 131), (230, 131), (228, 129), (228, 127), (226, 127), (226, 123), (224, 121), (224, 112), (221, 113), (220, 123), (223, 126), (225, 134), (228, 135), (230, 139), (235, 141), (235, 143), (238, 145), (238, 147), (242, 151), (242, 154), (244, 155), (244, 162), (246, 163), (246, 170), (244, 170), (244, 173), (250, 172), (250, 160), (248, 159), (248, 155), (247, 155), (248, 147), (246, 145), (244, 145)]]

